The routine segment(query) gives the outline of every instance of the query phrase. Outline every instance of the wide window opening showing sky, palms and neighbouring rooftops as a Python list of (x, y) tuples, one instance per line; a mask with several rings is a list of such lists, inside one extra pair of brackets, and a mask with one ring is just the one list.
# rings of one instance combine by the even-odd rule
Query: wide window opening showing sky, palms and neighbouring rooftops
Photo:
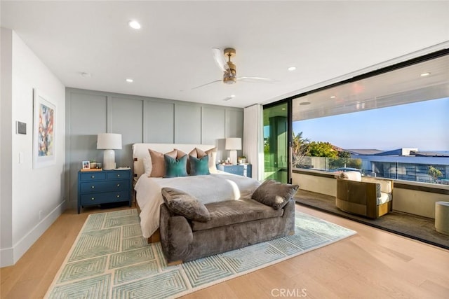
[(299, 95), (292, 107), (294, 168), (449, 184), (449, 55)]

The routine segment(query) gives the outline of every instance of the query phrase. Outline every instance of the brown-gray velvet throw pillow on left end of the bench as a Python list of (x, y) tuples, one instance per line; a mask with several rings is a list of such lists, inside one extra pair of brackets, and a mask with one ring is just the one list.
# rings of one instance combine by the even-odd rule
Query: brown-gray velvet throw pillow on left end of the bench
[(163, 201), (173, 213), (199, 222), (210, 220), (210, 214), (206, 206), (192, 195), (182, 190), (168, 187), (162, 188), (161, 193)]

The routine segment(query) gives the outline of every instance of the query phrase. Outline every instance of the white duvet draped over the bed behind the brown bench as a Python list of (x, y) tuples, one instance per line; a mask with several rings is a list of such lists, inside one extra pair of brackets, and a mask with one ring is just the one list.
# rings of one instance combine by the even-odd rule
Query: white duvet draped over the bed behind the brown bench
[(149, 178), (145, 174), (135, 184), (140, 212), (142, 235), (150, 237), (159, 228), (159, 206), (163, 202), (161, 189), (176, 188), (207, 204), (224, 200), (248, 198), (260, 183), (255, 179), (232, 174)]

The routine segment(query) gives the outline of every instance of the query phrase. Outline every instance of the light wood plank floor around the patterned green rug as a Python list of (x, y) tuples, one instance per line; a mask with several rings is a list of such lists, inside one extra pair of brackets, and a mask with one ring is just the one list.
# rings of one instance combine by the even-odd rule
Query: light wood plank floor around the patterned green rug
[[(358, 233), (185, 298), (449, 298), (449, 251), (297, 205)], [(1, 268), (1, 298), (42, 298), (88, 214), (67, 210)]]

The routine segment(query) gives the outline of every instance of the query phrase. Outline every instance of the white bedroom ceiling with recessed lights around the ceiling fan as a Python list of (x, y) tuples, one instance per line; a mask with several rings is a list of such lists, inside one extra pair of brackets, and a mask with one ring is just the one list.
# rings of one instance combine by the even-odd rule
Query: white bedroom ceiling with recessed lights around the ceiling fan
[[(0, 9), (1, 27), (13, 29), (67, 87), (237, 107), (449, 41), (449, 1), (1, 1)], [(129, 20), (142, 29), (130, 29)], [(238, 76), (276, 83), (192, 90), (221, 78), (214, 47), (236, 49)], [(229, 95), (236, 97), (223, 101)]]

